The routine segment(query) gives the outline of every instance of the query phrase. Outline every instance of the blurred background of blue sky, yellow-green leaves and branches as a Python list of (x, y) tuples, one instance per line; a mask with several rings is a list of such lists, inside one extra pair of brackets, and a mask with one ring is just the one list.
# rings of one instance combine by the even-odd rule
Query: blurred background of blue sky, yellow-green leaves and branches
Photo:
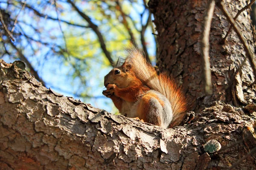
[[(130, 43), (153, 58), (153, 24), (145, 0), (3, 0), (0, 58), (21, 59), (47, 88), (111, 111), (101, 92), (111, 62)], [(3, 28), (3, 24), (1, 24)], [(143, 40), (145, 38), (145, 40)], [(147, 56), (148, 55), (148, 56)]]

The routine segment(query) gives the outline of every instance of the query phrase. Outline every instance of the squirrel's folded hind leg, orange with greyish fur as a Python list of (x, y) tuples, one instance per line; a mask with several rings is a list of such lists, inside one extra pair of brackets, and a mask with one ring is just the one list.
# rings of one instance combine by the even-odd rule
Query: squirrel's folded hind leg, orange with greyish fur
[(158, 98), (157, 94), (147, 93), (140, 99), (137, 106), (137, 115), (144, 122), (161, 127), (163, 105), (164, 102)]

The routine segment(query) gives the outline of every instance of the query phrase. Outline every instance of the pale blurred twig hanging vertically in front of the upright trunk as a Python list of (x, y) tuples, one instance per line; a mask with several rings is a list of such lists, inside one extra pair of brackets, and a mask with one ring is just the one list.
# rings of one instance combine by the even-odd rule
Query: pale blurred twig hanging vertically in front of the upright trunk
[(202, 74), (204, 81), (204, 91), (207, 95), (212, 94), (212, 76), (209, 61), (209, 35), (214, 7), (215, 0), (209, 0), (204, 16), (203, 32), (201, 35)]

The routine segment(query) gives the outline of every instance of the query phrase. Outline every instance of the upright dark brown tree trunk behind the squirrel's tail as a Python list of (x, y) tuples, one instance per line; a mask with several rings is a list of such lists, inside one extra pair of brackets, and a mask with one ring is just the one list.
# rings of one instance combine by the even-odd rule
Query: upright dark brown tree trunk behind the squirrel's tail
[[(225, 8), (235, 17), (238, 10), (248, 3), (247, 0), (225, 0)], [(212, 102), (227, 100), (224, 85), (228, 82), (228, 68), (230, 65), (241, 65), (246, 55), (234, 31), (228, 35), (224, 45), (220, 43), (230, 26), (222, 12), (215, 6), (209, 51), (213, 94), (207, 96), (201, 78), (200, 54), (200, 37), (207, 1), (150, 0), (148, 6), (154, 14), (157, 30), (157, 64), (160, 70), (168, 71), (179, 82), (183, 82), (186, 94), (191, 100), (191, 110), (201, 111)], [(251, 24), (249, 10), (239, 15), (237, 24), (254, 53), (255, 29)], [(256, 86), (249, 87), (255, 78), (248, 61), (242, 68), (242, 80), (246, 101), (255, 102)]]

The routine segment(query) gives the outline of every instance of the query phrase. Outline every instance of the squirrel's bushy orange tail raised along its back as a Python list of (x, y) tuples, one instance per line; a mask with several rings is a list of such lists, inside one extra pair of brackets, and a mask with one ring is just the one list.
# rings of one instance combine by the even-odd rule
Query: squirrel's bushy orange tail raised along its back
[(183, 120), (184, 112), (186, 111), (186, 98), (178, 87), (175, 80), (168, 77), (166, 74), (157, 71), (146, 60), (137, 48), (127, 50), (128, 56), (126, 61), (131, 63), (132, 69), (143, 84), (149, 88), (165, 95), (172, 105), (173, 119), (169, 127), (174, 127), (180, 124)]

